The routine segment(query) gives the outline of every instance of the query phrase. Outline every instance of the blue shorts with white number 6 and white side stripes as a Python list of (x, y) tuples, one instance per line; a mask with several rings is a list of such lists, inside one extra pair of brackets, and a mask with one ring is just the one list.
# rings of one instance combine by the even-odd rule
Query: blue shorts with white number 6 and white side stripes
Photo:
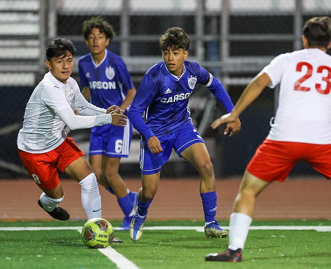
[(92, 127), (89, 155), (105, 155), (108, 157), (127, 157), (132, 139), (132, 124), (127, 120), (126, 126), (105, 124)]

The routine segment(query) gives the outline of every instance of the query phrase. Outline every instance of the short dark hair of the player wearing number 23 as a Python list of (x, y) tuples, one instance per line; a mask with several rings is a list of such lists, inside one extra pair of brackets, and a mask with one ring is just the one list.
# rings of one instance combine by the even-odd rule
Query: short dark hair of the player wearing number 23
[(311, 18), (305, 22), (302, 32), (307, 38), (308, 46), (328, 47), (331, 41), (331, 18), (328, 16)]

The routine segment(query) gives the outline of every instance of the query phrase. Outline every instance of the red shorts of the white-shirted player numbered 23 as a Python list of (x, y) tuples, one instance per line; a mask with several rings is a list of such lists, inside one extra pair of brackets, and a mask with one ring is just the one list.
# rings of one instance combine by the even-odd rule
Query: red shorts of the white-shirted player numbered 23
[(327, 179), (331, 178), (331, 144), (318, 145), (265, 139), (257, 148), (247, 171), (264, 181), (284, 181), (293, 166), (305, 161)]

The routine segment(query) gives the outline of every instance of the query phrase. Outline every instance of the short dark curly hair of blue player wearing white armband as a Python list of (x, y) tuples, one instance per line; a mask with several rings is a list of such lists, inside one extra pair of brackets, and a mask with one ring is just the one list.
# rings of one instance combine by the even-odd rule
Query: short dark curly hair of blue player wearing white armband
[(162, 51), (167, 49), (188, 50), (190, 47), (190, 38), (180, 27), (168, 28), (160, 38), (160, 48)]

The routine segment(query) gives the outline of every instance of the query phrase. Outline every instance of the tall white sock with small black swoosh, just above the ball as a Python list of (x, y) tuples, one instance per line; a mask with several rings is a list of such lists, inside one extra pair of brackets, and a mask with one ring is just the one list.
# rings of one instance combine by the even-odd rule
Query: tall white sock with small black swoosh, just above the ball
[(82, 205), (87, 220), (101, 218), (101, 196), (94, 173), (81, 180), (80, 185), (82, 188)]

